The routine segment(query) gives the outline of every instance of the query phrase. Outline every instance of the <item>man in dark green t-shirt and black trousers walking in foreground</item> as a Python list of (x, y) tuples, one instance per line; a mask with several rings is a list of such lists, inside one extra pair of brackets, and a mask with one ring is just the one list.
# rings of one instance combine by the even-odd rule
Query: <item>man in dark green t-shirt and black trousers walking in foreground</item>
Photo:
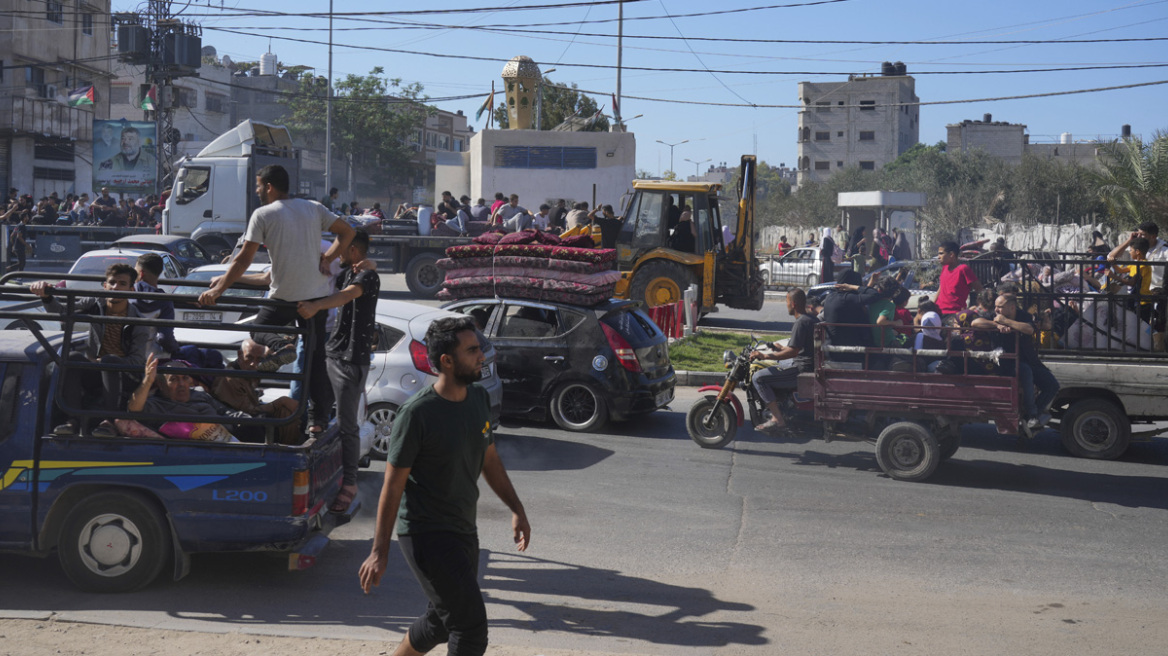
[(447, 654), (487, 650), (487, 609), (479, 589), (475, 507), (479, 473), (512, 511), (520, 551), (531, 540), (523, 504), (495, 451), (482, 348), (468, 316), (439, 319), (426, 330), (438, 382), (398, 411), (389, 438), (385, 482), (377, 504), (373, 550), (361, 565), (361, 588), (381, 584), (396, 521), (402, 554), (430, 599), (395, 656), (416, 656), (447, 642)]

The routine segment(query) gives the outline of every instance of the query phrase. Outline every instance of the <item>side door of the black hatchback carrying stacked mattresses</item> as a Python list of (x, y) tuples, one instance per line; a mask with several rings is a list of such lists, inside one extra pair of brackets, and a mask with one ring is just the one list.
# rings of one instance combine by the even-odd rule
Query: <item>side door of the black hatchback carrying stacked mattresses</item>
[(559, 313), (543, 303), (503, 301), (492, 329), (503, 414), (527, 414), (543, 407), (551, 382), (569, 365)]

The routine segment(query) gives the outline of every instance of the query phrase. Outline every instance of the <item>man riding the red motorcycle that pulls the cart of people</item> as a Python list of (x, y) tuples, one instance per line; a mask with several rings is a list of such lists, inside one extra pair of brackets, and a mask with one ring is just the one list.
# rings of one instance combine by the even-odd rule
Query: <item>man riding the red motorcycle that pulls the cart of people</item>
[(771, 348), (777, 349), (777, 353), (750, 354), (751, 360), (793, 361), (791, 367), (767, 367), (751, 378), (766, 410), (771, 411), (771, 418), (756, 428), (779, 437), (791, 435), (783, 411), (779, 410), (779, 397), (797, 388), (800, 374), (815, 370), (815, 324), (819, 323), (818, 319), (807, 314), (807, 293), (798, 287), (787, 292), (787, 312), (795, 317), (787, 344), (774, 342)]

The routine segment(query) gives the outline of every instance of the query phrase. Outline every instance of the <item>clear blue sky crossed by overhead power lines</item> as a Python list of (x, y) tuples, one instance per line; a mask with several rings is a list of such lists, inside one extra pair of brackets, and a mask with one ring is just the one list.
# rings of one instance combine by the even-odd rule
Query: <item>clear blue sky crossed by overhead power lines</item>
[[(563, 4), (552, 0), (549, 5)], [(790, 4), (807, 0), (787, 0)], [(1168, 81), (1168, 41), (1057, 43), (1057, 44), (906, 44), (906, 41), (1051, 41), (1069, 39), (1148, 39), (1168, 36), (1168, 0), (836, 0), (819, 5), (770, 8), (684, 18), (681, 14), (748, 9), (783, 0), (646, 0), (625, 5), (626, 36), (668, 36), (686, 40), (626, 39), (626, 67), (686, 69), (691, 72), (626, 70), (621, 114), (637, 134), (637, 166), (660, 173), (669, 166), (669, 148), (658, 140), (679, 142), (675, 168), (689, 175), (695, 165), (712, 160), (736, 163), (743, 153), (793, 166), (795, 159), (794, 109), (751, 106), (701, 106), (662, 100), (705, 100), (741, 105), (793, 105), (797, 84), (802, 81), (844, 81), (849, 72), (878, 74), (881, 62), (902, 61), (917, 81), (923, 103), (976, 100), (926, 105), (920, 110), (920, 140), (945, 139), (945, 125), (980, 119), (1026, 124), (1031, 141), (1055, 141), (1070, 132), (1075, 139), (1114, 138), (1122, 124), (1138, 135), (1150, 137), (1168, 128), (1168, 84), (1100, 91), (1073, 96), (1016, 100), (983, 100), (1004, 96), (1050, 93), (1079, 89), (1119, 86)], [(434, 0), (433, 2), (369, 2), (335, 0), (334, 11), (390, 12), (506, 8), (534, 6), (535, 0)], [(114, 11), (132, 11), (137, 2), (114, 0)], [(279, 37), (327, 42), (328, 20), (305, 16), (242, 16), (238, 12), (328, 11), (327, 0), (202, 0), (178, 1), (189, 20), (203, 25), (203, 44), (234, 60), (258, 60), (269, 49), (266, 36), (246, 36), (224, 29), (272, 36), (271, 50), (285, 64), (327, 69), (327, 46), (284, 41)], [(676, 16), (672, 20), (667, 18)], [(383, 67), (389, 77), (420, 82), (433, 98), (478, 95), (475, 98), (434, 103), (443, 110), (463, 110), (473, 121), (474, 112), (499, 81), (503, 62), (527, 55), (550, 78), (575, 82), (595, 90), (595, 98), (611, 113), (610, 93), (616, 89), (616, 5), (556, 7), (526, 11), (492, 11), (457, 14), (339, 16), (334, 21), (334, 78), (366, 74)], [(648, 20), (640, 20), (648, 18)], [(384, 21), (384, 22), (374, 22)], [(544, 25), (538, 25), (544, 23)], [(548, 26), (545, 23), (568, 23)], [(419, 29), (419, 26), (431, 26)], [(465, 29), (495, 26), (488, 29)], [(215, 28), (215, 29), (213, 29)], [(288, 29), (299, 28), (299, 29)], [(307, 29), (305, 29), (307, 28)], [(359, 29), (352, 28), (376, 28)], [(530, 30), (503, 33), (505, 29)], [(742, 43), (693, 41), (707, 39), (889, 41), (895, 44), (858, 43)], [(401, 50), (387, 53), (346, 48), (342, 44)], [(485, 57), (499, 61), (440, 58), (427, 54)], [(599, 64), (612, 68), (583, 68)], [(1148, 67), (1148, 64), (1159, 64)], [(987, 71), (1073, 67), (1124, 67), (1103, 70), (1043, 71), (1017, 74), (944, 74), (929, 71)], [(794, 75), (746, 75), (715, 71), (794, 71)], [(501, 84), (496, 83), (496, 88)], [(500, 96), (501, 97), (501, 96)], [(498, 97), (496, 97), (498, 98)], [(473, 124), (477, 130), (486, 125)], [(708, 165), (702, 165), (704, 169)]]

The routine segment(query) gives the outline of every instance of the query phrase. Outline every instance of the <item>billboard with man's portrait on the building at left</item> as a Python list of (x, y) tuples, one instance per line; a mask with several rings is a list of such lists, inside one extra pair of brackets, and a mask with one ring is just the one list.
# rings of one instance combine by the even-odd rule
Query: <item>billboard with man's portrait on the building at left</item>
[(154, 193), (158, 139), (153, 123), (93, 119), (93, 191)]

